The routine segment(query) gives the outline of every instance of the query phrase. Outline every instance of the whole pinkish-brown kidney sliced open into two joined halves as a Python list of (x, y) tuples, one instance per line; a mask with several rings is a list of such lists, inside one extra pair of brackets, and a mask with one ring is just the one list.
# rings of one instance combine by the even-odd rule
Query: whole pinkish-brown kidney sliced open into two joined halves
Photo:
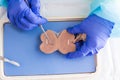
[(42, 52), (50, 54), (59, 50), (62, 54), (67, 54), (68, 52), (75, 51), (76, 47), (73, 43), (75, 36), (66, 30), (62, 31), (58, 37), (51, 30), (46, 31), (46, 33), (50, 41), (47, 40), (44, 33), (41, 35), (42, 44), (40, 45), (40, 50)]

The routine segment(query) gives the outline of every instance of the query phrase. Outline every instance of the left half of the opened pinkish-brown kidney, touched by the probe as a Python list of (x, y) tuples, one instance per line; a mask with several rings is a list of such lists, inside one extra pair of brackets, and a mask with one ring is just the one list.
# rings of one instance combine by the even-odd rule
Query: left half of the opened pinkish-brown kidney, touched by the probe
[[(42, 41), (42, 44), (40, 45), (40, 50), (46, 54), (50, 54), (58, 49), (57, 36), (51, 30), (47, 30), (46, 33), (47, 33), (50, 41), (48, 41), (48, 39), (45, 37), (45, 34), (42, 34), (40, 37), (41, 41)], [(52, 43), (50, 44), (50, 42), (52, 42)]]

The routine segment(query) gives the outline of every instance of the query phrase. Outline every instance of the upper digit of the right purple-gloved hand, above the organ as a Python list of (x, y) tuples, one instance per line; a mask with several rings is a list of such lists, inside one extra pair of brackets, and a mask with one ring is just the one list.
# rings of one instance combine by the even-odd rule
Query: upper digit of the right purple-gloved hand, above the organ
[(81, 31), (80, 24), (67, 28), (67, 32), (71, 34), (83, 33), (83, 31)]

